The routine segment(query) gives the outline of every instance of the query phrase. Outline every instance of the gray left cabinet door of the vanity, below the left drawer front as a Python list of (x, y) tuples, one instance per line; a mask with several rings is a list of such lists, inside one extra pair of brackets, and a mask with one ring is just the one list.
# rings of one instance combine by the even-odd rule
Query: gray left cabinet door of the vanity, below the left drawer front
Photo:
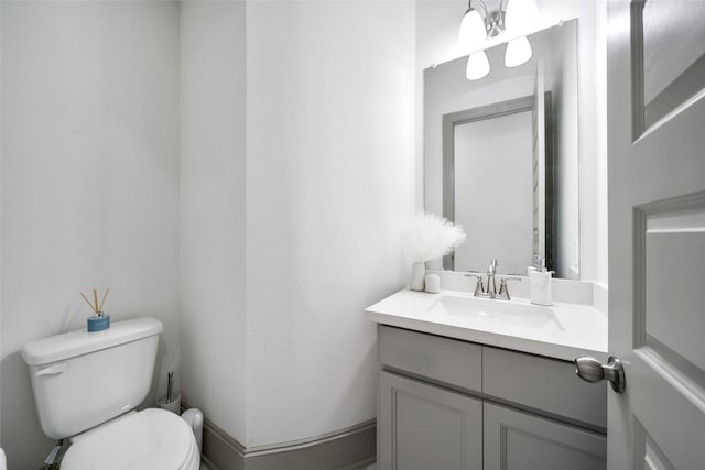
[(380, 470), (480, 470), (482, 402), (380, 373)]

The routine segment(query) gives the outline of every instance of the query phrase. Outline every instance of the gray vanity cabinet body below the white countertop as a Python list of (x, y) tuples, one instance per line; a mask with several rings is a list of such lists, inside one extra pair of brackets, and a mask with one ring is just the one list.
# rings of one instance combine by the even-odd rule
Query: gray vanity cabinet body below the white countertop
[(606, 468), (606, 387), (570, 362), (383, 325), (379, 346), (379, 470)]

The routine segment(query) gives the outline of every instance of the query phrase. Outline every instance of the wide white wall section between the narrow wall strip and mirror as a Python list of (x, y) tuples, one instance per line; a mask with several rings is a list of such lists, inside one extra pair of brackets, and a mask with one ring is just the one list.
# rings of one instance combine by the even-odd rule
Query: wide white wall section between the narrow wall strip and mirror
[(248, 445), (376, 415), (362, 309), (402, 287), (414, 3), (247, 7)]

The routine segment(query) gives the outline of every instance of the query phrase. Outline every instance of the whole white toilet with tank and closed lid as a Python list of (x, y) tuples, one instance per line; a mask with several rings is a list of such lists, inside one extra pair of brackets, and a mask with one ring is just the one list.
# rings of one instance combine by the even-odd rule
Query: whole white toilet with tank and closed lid
[(144, 317), (24, 346), (42, 429), (72, 441), (62, 470), (198, 469), (185, 420), (164, 409), (134, 411), (150, 390), (162, 329)]

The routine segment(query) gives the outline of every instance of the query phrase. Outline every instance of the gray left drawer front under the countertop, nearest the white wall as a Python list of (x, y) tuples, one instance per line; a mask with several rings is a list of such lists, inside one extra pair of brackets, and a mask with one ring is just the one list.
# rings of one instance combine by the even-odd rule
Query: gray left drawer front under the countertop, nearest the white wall
[(482, 348), (400, 328), (379, 327), (380, 362), (455, 386), (482, 390)]

